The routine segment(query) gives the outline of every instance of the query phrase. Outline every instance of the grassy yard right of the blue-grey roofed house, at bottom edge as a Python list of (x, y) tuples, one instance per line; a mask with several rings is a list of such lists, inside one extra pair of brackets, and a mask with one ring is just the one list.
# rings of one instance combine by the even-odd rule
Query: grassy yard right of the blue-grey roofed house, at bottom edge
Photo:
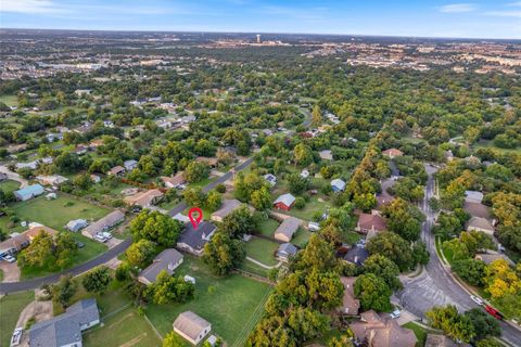
[(137, 309), (128, 307), (116, 314), (103, 319), (103, 326), (84, 333), (84, 346), (105, 347), (154, 347), (162, 340)]

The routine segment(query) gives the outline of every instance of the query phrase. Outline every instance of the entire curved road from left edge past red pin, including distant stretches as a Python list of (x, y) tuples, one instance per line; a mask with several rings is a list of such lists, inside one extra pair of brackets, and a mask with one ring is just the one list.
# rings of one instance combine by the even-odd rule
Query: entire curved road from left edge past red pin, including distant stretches
[[(247, 158), (237, 167), (234, 167), (236, 171), (243, 170), (246, 168), (250, 164), (252, 164), (253, 157)], [(232, 169), (233, 170), (233, 169)], [(226, 182), (228, 179), (230, 179), (233, 175), (232, 170), (226, 172), (215, 181), (211, 182), (207, 184), (205, 188), (203, 188), (203, 192), (208, 192), (209, 190), (214, 189), (217, 184)], [(178, 213), (183, 211), (187, 208), (187, 204), (185, 202), (178, 204), (176, 207), (170, 209), (168, 214), (170, 216), (175, 216)], [(115, 247), (109, 249), (107, 252), (103, 253), (102, 255), (98, 256), (97, 258), (93, 258), (87, 262), (84, 262), (81, 265), (78, 265), (77, 267), (74, 267), (68, 270), (64, 270), (60, 273), (54, 273), (45, 278), (38, 278), (38, 279), (33, 279), (33, 280), (27, 280), (27, 281), (21, 281), (21, 282), (3, 282), (0, 283), (0, 293), (1, 294), (9, 294), (9, 293), (15, 293), (15, 292), (23, 292), (23, 291), (30, 291), (30, 290), (36, 290), (41, 287), (43, 284), (49, 284), (49, 283), (54, 283), (56, 282), (61, 275), (71, 273), (73, 275), (78, 275), (81, 274), (86, 271), (89, 271), (92, 268), (96, 268), (102, 264), (105, 264), (106, 261), (117, 257), (122, 253), (124, 253), (132, 243), (130, 239), (124, 240), (122, 243), (116, 245)]]

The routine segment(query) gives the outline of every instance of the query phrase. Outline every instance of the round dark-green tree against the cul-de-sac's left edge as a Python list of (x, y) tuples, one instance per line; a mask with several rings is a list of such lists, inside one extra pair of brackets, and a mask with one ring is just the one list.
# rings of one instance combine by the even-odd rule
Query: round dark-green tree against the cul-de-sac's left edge
[(373, 273), (360, 274), (355, 281), (355, 296), (360, 299), (364, 310), (389, 311), (391, 290), (385, 281)]

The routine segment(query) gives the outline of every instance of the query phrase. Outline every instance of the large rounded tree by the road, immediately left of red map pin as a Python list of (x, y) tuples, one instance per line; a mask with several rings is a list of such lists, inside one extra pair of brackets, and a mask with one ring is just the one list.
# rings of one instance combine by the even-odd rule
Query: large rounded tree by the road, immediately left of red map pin
[(142, 210), (131, 222), (130, 233), (135, 241), (148, 240), (165, 247), (173, 247), (182, 230), (182, 224), (156, 210)]

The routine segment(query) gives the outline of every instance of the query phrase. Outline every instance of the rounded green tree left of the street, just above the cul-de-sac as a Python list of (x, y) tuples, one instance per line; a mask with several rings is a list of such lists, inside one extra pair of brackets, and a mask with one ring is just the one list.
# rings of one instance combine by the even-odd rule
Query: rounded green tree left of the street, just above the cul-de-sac
[(416, 265), (407, 241), (394, 232), (378, 233), (367, 243), (369, 254), (380, 254), (397, 265), (399, 271), (412, 269)]

